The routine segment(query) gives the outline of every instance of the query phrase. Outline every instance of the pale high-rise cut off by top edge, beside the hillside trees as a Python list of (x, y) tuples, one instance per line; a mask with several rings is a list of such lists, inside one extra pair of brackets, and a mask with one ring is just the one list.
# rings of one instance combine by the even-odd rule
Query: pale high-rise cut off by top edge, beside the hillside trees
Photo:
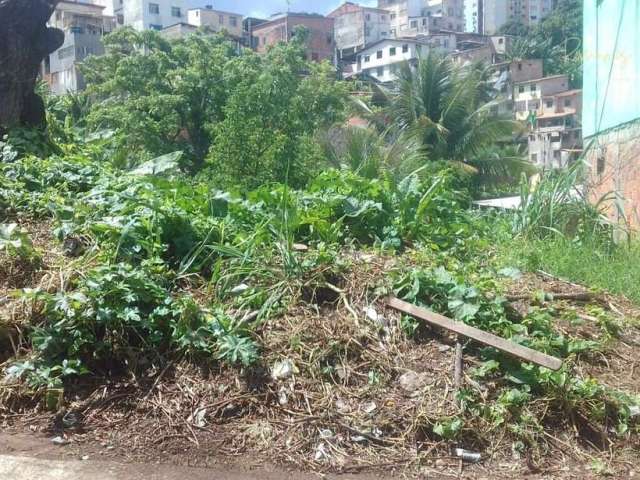
[(465, 0), (467, 28), (493, 35), (508, 22), (535, 25), (553, 10), (557, 0)]

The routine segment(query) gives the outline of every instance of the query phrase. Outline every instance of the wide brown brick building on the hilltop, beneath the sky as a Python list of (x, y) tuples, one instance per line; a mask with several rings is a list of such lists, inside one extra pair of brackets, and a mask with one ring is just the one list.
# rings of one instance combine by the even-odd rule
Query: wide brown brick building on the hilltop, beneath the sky
[(280, 13), (253, 29), (256, 50), (264, 53), (279, 42), (288, 42), (298, 26), (309, 31), (307, 58), (312, 61), (330, 60), (335, 57), (333, 39), (334, 19), (315, 13)]

